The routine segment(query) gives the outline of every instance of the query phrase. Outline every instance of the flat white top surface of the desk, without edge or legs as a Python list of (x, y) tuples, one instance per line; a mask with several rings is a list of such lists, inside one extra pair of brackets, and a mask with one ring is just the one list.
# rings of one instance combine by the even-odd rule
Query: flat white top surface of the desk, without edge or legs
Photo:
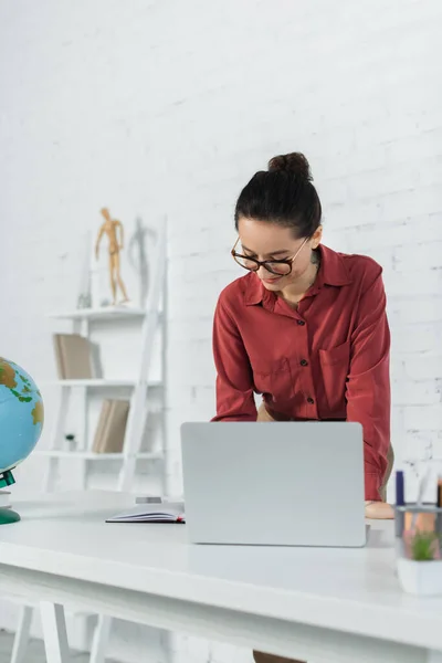
[(371, 522), (360, 549), (194, 546), (183, 525), (104, 522), (134, 502), (101, 491), (15, 502), (0, 564), (442, 649), (442, 598), (400, 590), (391, 522)]

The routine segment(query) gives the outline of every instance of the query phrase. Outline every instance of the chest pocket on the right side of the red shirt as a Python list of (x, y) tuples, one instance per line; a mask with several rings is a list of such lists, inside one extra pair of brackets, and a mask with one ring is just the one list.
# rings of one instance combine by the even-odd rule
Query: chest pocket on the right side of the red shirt
[(349, 341), (329, 350), (319, 350), (319, 362), (329, 411), (345, 414), (345, 392), (350, 368)]

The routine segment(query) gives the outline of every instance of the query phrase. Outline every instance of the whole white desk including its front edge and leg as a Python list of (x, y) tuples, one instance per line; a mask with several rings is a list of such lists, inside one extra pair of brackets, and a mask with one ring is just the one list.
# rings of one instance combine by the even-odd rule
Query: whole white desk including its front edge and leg
[(364, 549), (190, 546), (183, 525), (104, 523), (133, 502), (15, 503), (22, 522), (0, 528), (0, 591), (43, 601), (46, 638), (63, 636), (53, 603), (74, 603), (311, 663), (442, 661), (442, 599), (400, 591), (392, 523), (375, 523)]

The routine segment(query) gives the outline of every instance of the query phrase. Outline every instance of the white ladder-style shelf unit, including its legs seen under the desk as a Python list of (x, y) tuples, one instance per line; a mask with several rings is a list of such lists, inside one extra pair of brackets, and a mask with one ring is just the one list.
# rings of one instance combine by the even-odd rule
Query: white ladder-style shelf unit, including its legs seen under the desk
[[(141, 356), (139, 361), (138, 376), (135, 379), (104, 379), (95, 378), (87, 380), (52, 380), (46, 382), (46, 386), (53, 386), (60, 390), (60, 402), (55, 417), (54, 428), (50, 442), (50, 449), (35, 450), (33, 455), (39, 455), (46, 462), (46, 472), (43, 480), (45, 491), (52, 491), (55, 484), (55, 477), (59, 469), (59, 463), (66, 460), (76, 460), (83, 464), (83, 487), (86, 487), (87, 467), (91, 463), (109, 463), (119, 464), (119, 472), (116, 482), (116, 490), (130, 492), (133, 478), (136, 472), (137, 464), (140, 462), (162, 462), (165, 470), (165, 383), (166, 375), (165, 362), (162, 356), (162, 379), (152, 380), (149, 378), (149, 369), (151, 364), (151, 355), (154, 349), (154, 340), (158, 326), (161, 329), (162, 345), (165, 345), (165, 309), (166, 309), (166, 280), (167, 280), (167, 227), (166, 222), (158, 234), (158, 242), (155, 252), (155, 264), (152, 265), (152, 277), (149, 292), (146, 299), (146, 305), (141, 307), (133, 306), (108, 306), (103, 308), (80, 308), (64, 313), (53, 313), (51, 318), (57, 320), (71, 320), (72, 330), (76, 334), (82, 334), (88, 337), (91, 325), (95, 322), (113, 322), (122, 319), (139, 320), (141, 325)], [(162, 309), (161, 309), (162, 304)], [(165, 348), (162, 347), (162, 355)], [(43, 387), (44, 385), (42, 385)], [(152, 389), (162, 389), (162, 450), (159, 452), (141, 451), (143, 433), (145, 431), (146, 419), (149, 415), (149, 396)], [(83, 392), (83, 449), (69, 450), (62, 449), (64, 441), (64, 427), (66, 414), (70, 407), (71, 394), (74, 389)], [(94, 390), (95, 394), (99, 390), (116, 389), (126, 390), (130, 394), (130, 409), (126, 427), (126, 434), (120, 453), (94, 453), (87, 449), (88, 441), (88, 422), (87, 422), (87, 399), (90, 391)], [(162, 472), (164, 492), (165, 471)], [(14, 646), (11, 656), (11, 663), (25, 663), (27, 661), (27, 643), (30, 638), (32, 612), (35, 604), (29, 603), (23, 606), (19, 625), (15, 633)], [(85, 614), (88, 614), (85, 612)], [(98, 624), (95, 630), (93, 648), (91, 652), (91, 663), (104, 663), (106, 655), (107, 642), (112, 628), (112, 619), (106, 615), (98, 617)]]

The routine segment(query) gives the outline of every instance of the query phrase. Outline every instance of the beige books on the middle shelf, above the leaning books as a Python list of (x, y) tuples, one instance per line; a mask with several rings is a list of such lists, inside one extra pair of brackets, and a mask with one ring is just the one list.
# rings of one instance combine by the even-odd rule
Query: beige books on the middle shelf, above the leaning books
[(91, 343), (80, 334), (54, 334), (55, 361), (61, 380), (93, 378)]

